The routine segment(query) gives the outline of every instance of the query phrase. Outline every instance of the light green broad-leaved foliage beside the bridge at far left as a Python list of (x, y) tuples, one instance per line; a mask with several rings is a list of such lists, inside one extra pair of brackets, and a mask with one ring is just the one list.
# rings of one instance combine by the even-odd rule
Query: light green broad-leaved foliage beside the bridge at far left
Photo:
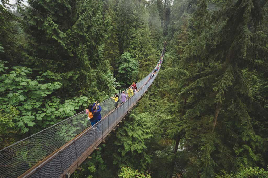
[(44, 83), (44, 73), (31, 78), (32, 69), (21, 66), (5, 67), (6, 61), (0, 61), (0, 108), (10, 113), (10, 107), (20, 112), (14, 117), (16, 127), (22, 133), (30, 127), (39, 125), (44, 128), (70, 117), (79, 107), (88, 105), (85, 96), (74, 97), (72, 100), (61, 100), (53, 96), (62, 86), (59, 82)]

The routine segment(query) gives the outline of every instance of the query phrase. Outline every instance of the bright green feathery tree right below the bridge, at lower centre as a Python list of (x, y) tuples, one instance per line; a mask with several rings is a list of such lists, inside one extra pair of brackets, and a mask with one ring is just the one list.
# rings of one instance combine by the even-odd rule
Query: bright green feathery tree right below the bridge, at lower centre
[(118, 167), (131, 166), (145, 172), (151, 161), (150, 155), (147, 154), (146, 141), (152, 137), (152, 123), (148, 115), (136, 116), (137, 114), (131, 114), (124, 126), (117, 131), (117, 140), (114, 143), (119, 148), (117, 153), (113, 154), (113, 163)]

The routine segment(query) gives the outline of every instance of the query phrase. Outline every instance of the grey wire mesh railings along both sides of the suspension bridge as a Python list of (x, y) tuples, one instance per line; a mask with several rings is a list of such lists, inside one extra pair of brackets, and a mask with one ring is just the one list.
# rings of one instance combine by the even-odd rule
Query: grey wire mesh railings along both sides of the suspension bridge
[[(161, 56), (164, 54), (165, 45)], [(72, 173), (116, 127), (156, 76), (157, 73), (150, 79), (149, 74), (138, 82), (139, 91), (116, 109), (111, 98), (101, 102), (104, 117), (96, 123), (97, 129), (90, 127), (88, 115), (82, 111), (0, 150), (0, 177), (18, 177), (23, 173), (22, 177), (64, 177), (67, 172)]]

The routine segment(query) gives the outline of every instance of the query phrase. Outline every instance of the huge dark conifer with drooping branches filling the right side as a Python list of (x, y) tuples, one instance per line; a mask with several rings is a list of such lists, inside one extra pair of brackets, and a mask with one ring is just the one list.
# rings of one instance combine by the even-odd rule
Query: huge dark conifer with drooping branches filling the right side
[(267, 136), (254, 129), (256, 122), (267, 126), (267, 109), (243, 75), (244, 70), (267, 71), (266, 38), (258, 31), (266, 2), (226, 1), (223, 9), (207, 11), (208, 1), (198, 1), (195, 38), (180, 61), (195, 70), (181, 81), (189, 86), (180, 96), (189, 98), (184, 128), (188, 142), (199, 145), (201, 177), (213, 177), (221, 168), (267, 164)]

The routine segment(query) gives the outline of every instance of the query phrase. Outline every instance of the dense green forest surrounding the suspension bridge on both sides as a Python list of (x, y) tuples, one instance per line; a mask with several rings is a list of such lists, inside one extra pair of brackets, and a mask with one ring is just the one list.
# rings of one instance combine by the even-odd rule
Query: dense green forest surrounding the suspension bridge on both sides
[(167, 41), (72, 177), (268, 177), (267, 0), (14, 3), (0, 0), (0, 148), (139, 81)]

